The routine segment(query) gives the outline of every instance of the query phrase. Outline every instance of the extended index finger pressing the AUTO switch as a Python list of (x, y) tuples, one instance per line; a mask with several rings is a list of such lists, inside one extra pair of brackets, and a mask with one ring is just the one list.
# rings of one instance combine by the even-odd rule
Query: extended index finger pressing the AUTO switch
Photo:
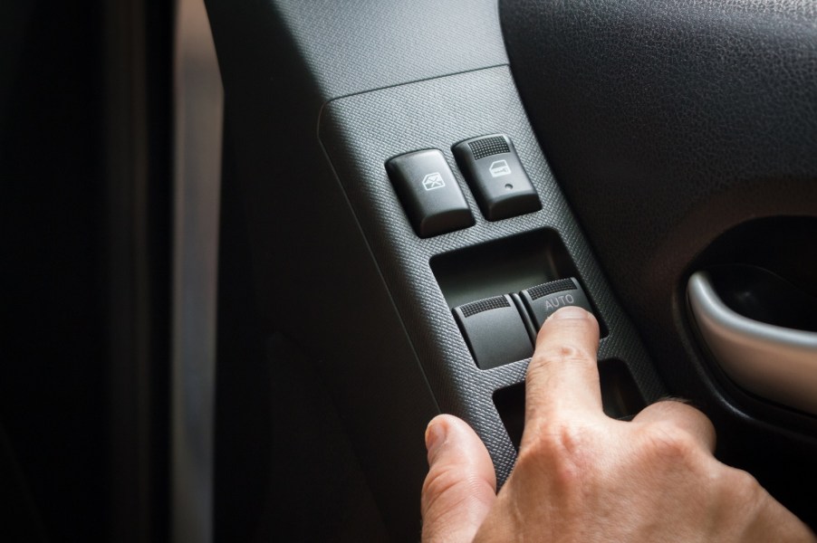
[(525, 383), (525, 427), (576, 412), (602, 413), (598, 348), (599, 323), (582, 308), (562, 308), (544, 322)]

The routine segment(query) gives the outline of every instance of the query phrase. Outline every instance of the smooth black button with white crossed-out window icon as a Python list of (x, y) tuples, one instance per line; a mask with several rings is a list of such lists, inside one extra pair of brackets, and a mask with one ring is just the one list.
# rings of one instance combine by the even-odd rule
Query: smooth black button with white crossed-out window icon
[(418, 236), (425, 238), (474, 224), (466, 198), (439, 150), (391, 158), (386, 171)]

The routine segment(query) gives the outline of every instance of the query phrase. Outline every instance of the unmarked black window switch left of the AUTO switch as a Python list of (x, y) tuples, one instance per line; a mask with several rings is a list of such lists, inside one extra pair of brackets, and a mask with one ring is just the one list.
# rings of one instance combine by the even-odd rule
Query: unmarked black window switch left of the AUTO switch
[(461, 305), (454, 317), (481, 369), (533, 356), (522, 315), (508, 294)]

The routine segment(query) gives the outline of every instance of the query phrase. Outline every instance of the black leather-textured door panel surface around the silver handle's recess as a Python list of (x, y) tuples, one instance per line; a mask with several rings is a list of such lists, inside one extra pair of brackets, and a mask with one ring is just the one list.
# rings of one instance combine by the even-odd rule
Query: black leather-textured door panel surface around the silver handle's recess
[[(501, 0), (500, 14), (543, 151), (671, 391), (728, 436), (719, 458), (817, 524), (802, 469), (817, 426), (717, 386), (683, 294), (701, 254), (735, 255), (708, 251), (721, 234), (817, 215), (817, 4)], [(774, 232), (746, 246), (813, 253)]]

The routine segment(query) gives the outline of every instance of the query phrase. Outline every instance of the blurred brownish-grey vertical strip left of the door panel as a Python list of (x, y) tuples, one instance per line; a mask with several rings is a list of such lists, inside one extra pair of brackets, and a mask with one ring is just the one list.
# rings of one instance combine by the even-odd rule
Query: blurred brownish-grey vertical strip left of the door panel
[(224, 90), (203, 0), (178, 2), (174, 41), (170, 539), (210, 543)]

